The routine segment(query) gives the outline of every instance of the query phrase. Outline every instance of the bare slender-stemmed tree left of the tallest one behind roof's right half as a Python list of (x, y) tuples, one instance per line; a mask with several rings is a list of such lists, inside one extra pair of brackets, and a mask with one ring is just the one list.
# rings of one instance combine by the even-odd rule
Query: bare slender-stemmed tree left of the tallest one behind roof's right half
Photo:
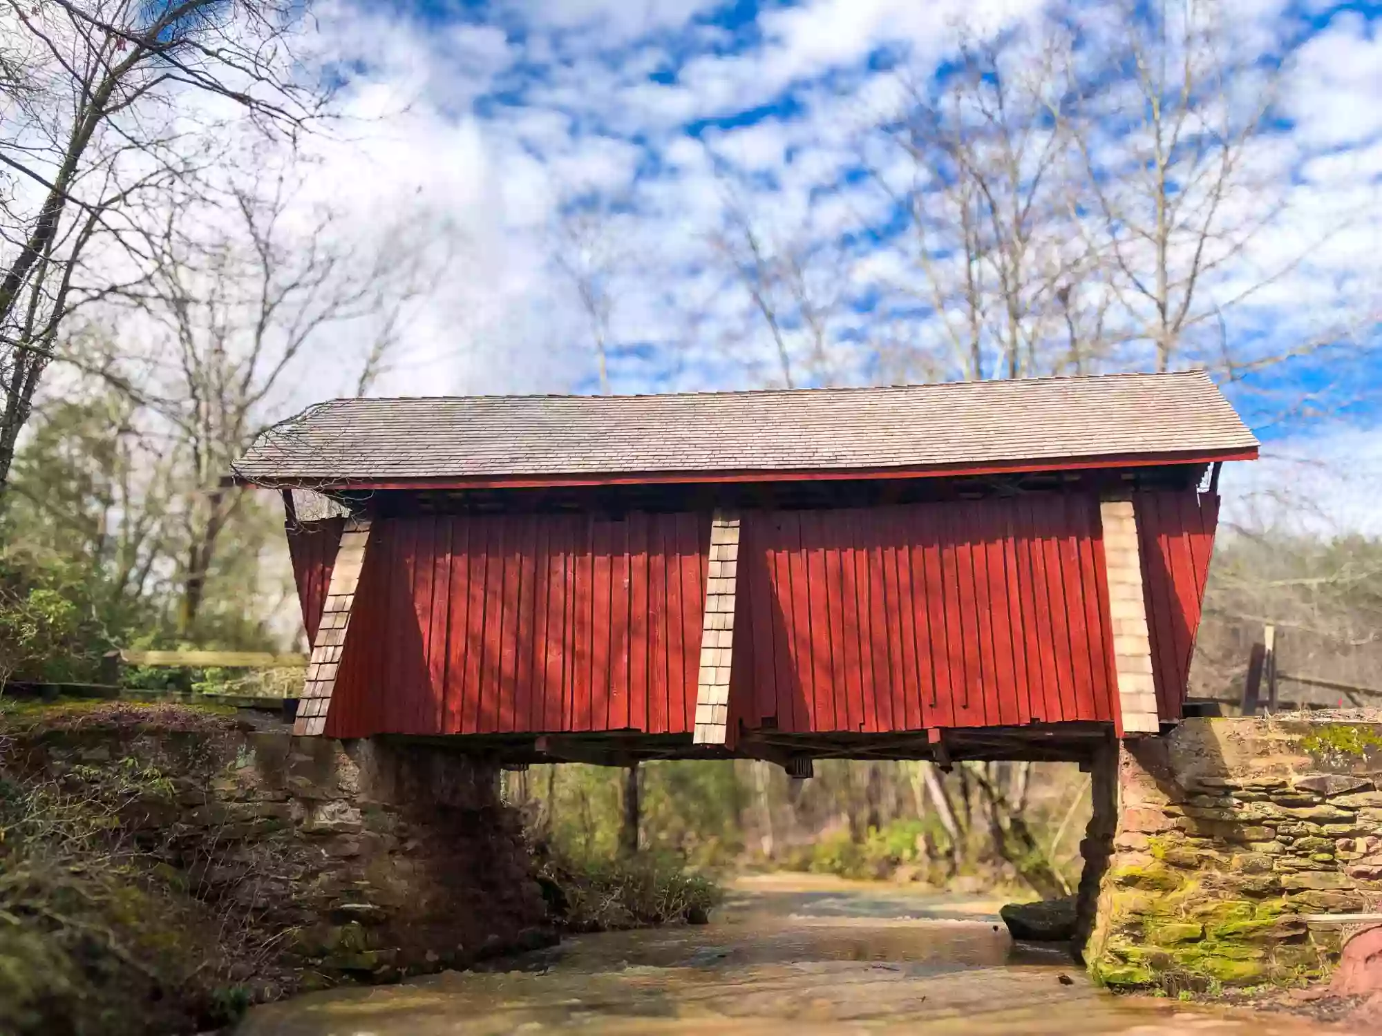
[(980, 380), (1090, 366), (1099, 315), (1081, 290), (1089, 250), (1061, 207), (1068, 133), (1049, 115), (1067, 61), (1059, 41), (1013, 33), (963, 39), (938, 77), (900, 73), (901, 104), (865, 144), (873, 181), (907, 221), (889, 285), (909, 329), (887, 356), (897, 374)]

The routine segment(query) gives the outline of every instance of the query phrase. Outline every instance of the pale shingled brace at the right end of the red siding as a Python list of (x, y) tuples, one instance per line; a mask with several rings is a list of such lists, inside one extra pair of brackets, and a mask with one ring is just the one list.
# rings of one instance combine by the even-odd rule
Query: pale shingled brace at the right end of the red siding
[(1147, 595), (1142, 584), (1137, 512), (1132, 500), (1103, 500), (1104, 565), (1108, 569), (1108, 612), (1114, 622), (1114, 673), (1124, 733), (1159, 733), (1157, 685), (1151, 673)]

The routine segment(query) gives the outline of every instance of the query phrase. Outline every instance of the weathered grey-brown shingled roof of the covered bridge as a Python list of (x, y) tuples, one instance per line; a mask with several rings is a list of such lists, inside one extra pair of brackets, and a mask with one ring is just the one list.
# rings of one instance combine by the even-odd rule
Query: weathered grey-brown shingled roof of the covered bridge
[(1244, 454), (1202, 372), (633, 396), (333, 399), (235, 464), (260, 483), (572, 479)]

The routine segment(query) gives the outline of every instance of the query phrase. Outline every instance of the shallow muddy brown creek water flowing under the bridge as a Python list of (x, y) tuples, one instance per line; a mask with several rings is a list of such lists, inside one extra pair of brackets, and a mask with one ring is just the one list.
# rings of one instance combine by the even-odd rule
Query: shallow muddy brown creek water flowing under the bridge
[(746, 880), (705, 927), (586, 935), (509, 971), (312, 993), (253, 1010), (239, 1036), (1346, 1032), (1114, 997), (1063, 953), (1014, 948), (996, 909), (879, 885)]

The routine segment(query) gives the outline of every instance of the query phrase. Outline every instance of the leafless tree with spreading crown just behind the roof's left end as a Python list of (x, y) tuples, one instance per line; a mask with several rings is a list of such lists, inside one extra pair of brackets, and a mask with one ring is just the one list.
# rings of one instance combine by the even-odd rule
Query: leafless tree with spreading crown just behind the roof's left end
[[(141, 311), (155, 332), (142, 402), (171, 428), (191, 488), (181, 511), (185, 557), (177, 629), (202, 606), (218, 539), (243, 503), (221, 483), (231, 463), (292, 396), (294, 381), (329, 370), (362, 395), (384, 370), (399, 314), (428, 280), (426, 242), (401, 228), (357, 258), (329, 209), (294, 210), (303, 173), (232, 184), (214, 207), (173, 206), (146, 238), (152, 274)], [(322, 336), (339, 338), (328, 345)], [(352, 355), (343, 344), (362, 344)], [(348, 373), (354, 366), (354, 373)], [(127, 378), (134, 383), (135, 378)], [(318, 384), (321, 377), (318, 377)]]

